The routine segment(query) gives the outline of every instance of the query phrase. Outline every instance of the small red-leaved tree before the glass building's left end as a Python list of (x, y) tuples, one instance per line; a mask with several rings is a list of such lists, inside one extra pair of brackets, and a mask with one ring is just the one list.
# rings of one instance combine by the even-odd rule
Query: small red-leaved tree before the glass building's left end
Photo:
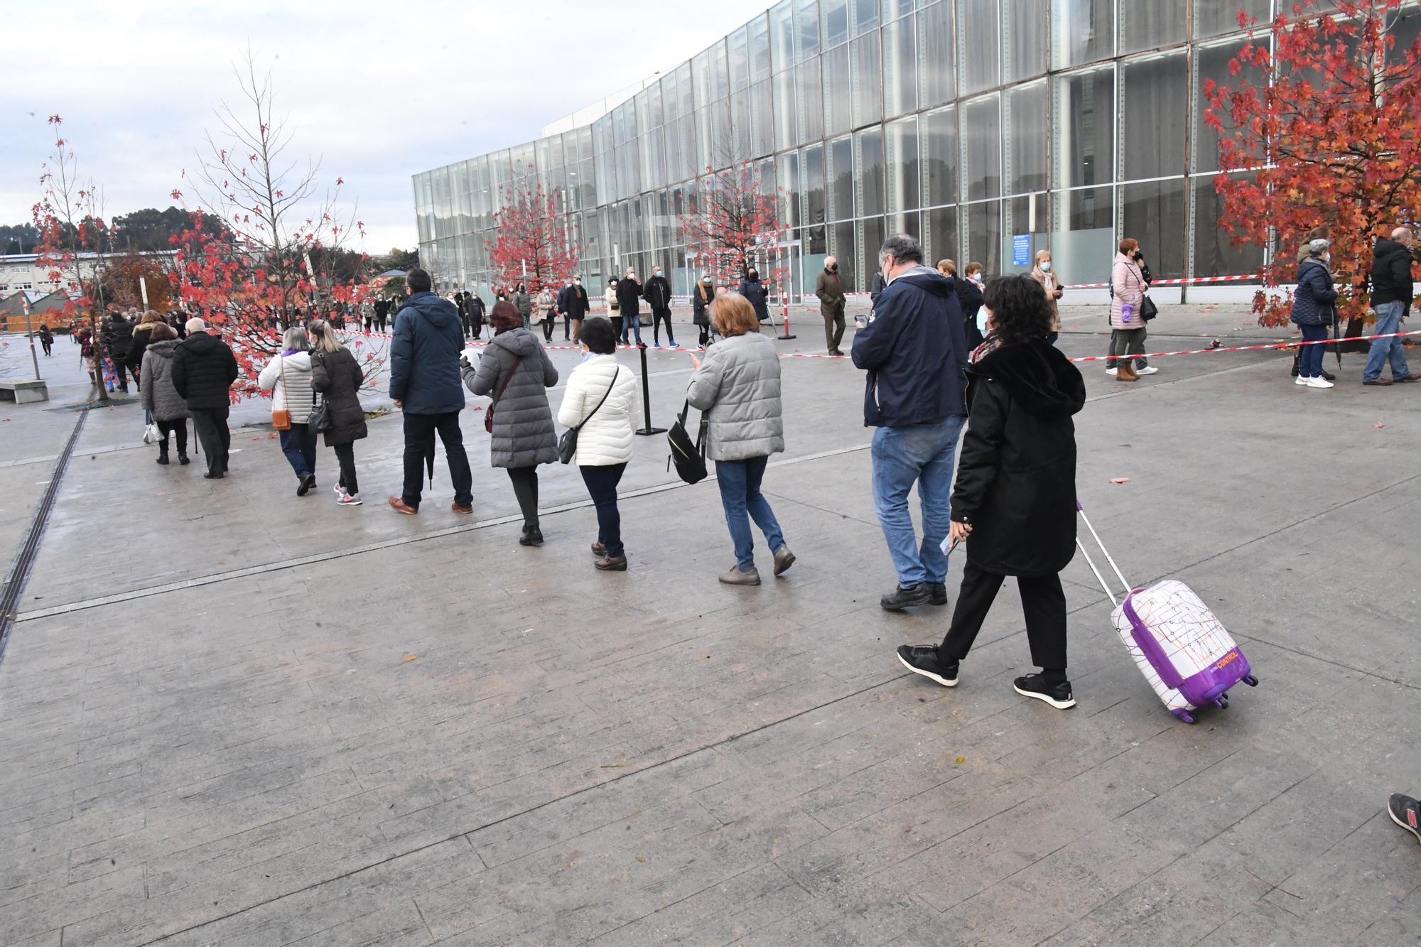
[(493, 216), (499, 236), (489, 249), (496, 283), (526, 283), (533, 296), (544, 286), (554, 291), (567, 286), (581, 260), (557, 195), (546, 192), (529, 168), (503, 185), (499, 200), (503, 209)]

